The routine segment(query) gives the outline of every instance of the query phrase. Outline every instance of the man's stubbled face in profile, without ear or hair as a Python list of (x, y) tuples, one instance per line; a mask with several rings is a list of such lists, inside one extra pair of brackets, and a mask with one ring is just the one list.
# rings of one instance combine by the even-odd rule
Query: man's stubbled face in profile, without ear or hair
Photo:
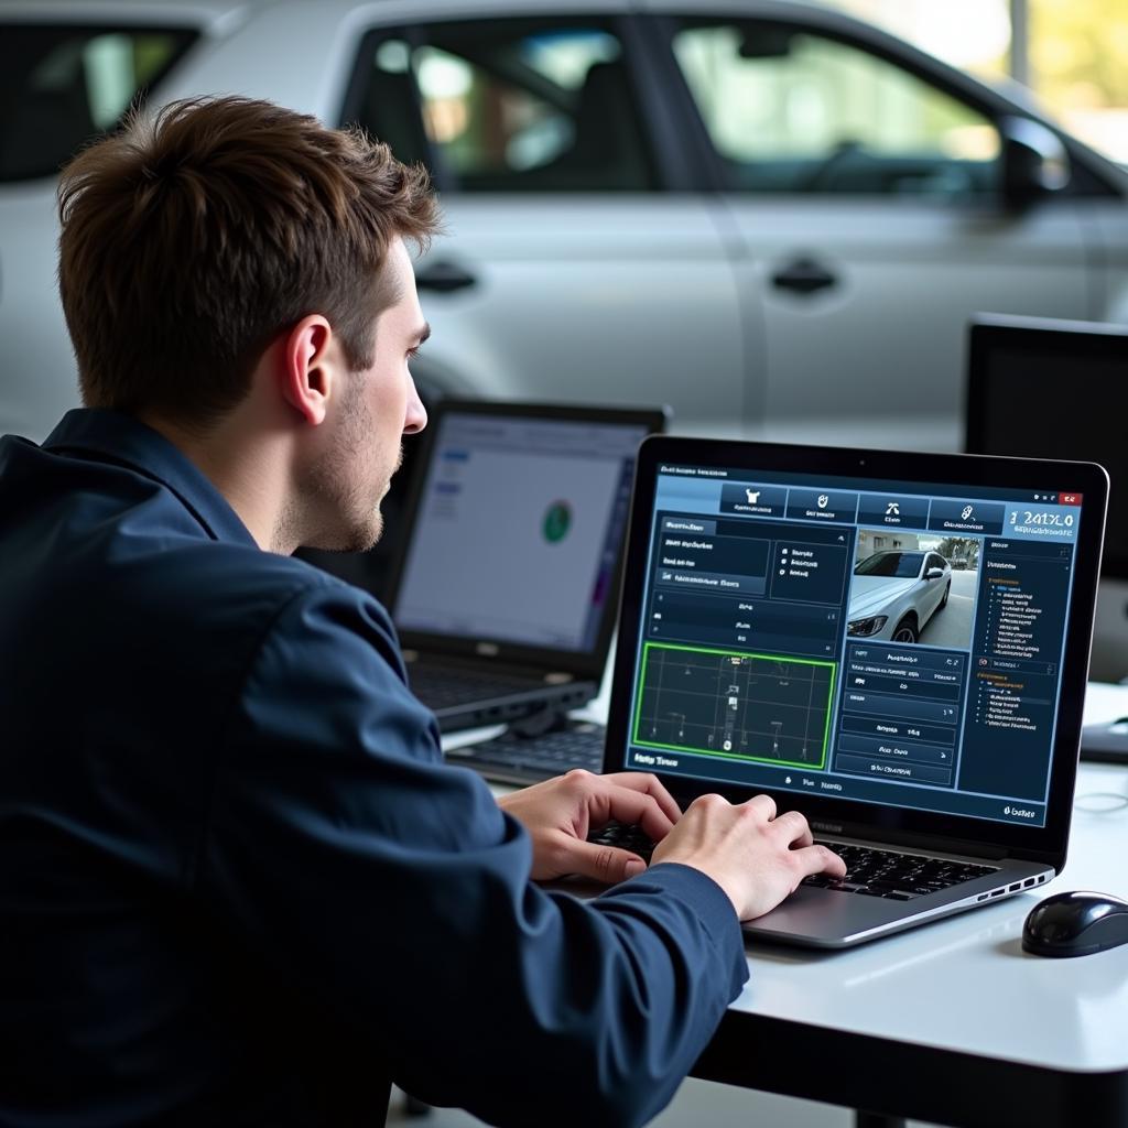
[(372, 367), (344, 372), (326, 420), (327, 446), (310, 469), (311, 547), (363, 552), (380, 539), (380, 502), (403, 458), (400, 437), (426, 426), (408, 363), (430, 331), (403, 239), (388, 248), (384, 268), (398, 297), (377, 318)]

